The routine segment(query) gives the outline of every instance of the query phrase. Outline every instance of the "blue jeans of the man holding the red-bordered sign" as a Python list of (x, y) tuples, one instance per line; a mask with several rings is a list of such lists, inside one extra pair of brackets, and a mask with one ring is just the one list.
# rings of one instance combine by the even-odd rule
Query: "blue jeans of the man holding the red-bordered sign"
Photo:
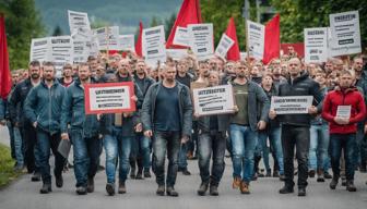
[(107, 183), (115, 183), (117, 158), (119, 157), (119, 182), (127, 180), (130, 171), (129, 156), (133, 137), (122, 137), (122, 128), (114, 127), (111, 135), (105, 135), (104, 146), (106, 151)]

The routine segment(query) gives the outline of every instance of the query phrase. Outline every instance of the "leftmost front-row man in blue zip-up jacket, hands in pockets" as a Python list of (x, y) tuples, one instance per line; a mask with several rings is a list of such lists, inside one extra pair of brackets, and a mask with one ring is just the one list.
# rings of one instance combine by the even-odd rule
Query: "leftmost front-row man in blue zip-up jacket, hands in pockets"
[(39, 165), (43, 180), (40, 194), (51, 192), (50, 175), (50, 148), (55, 155), (56, 186), (62, 187), (62, 169), (64, 158), (58, 151), (60, 143), (60, 115), (61, 103), (66, 94), (64, 87), (56, 79), (56, 69), (51, 62), (43, 65), (44, 81), (31, 89), (24, 103), (25, 116), (37, 132), (37, 145), (39, 148)]

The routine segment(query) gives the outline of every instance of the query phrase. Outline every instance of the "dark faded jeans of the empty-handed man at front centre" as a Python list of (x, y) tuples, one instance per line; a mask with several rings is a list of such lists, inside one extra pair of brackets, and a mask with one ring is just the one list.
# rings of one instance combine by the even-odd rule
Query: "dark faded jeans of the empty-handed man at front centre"
[(179, 132), (155, 132), (153, 138), (153, 172), (158, 185), (165, 185), (165, 158), (168, 157), (166, 185), (176, 184), (178, 169), (178, 152), (181, 134)]

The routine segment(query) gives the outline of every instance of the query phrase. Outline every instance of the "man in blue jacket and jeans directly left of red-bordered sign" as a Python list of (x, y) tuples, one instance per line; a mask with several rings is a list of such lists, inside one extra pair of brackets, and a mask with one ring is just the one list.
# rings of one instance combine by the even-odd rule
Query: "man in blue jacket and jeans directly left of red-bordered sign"
[(85, 115), (84, 86), (95, 83), (91, 75), (88, 64), (80, 64), (79, 78), (67, 88), (61, 109), (61, 139), (69, 140), (70, 133), (73, 144), (75, 186), (79, 195), (94, 192), (94, 176), (97, 172), (102, 149), (97, 115)]

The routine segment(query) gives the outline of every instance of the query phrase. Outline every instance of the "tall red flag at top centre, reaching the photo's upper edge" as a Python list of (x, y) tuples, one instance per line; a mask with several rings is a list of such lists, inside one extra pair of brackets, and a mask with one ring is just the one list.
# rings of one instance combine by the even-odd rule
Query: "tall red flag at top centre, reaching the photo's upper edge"
[(202, 23), (199, 0), (183, 0), (180, 11), (167, 39), (166, 48), (186, 49), (187, 47), (174, 45), (177, 26), (187, 27), (188, 24)]

